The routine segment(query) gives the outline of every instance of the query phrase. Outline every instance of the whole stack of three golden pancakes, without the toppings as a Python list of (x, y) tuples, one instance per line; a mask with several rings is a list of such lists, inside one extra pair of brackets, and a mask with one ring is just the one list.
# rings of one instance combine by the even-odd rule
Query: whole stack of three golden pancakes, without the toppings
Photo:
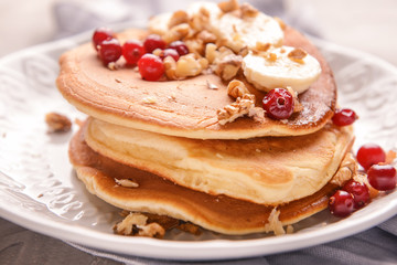
[[(118, 38), (147, 34), (129, 30)], [(135, 68), (105, 67), (90, 43), (66, 52), (57, 87), (89, 116), (69, 146), (78, 178), (120, 209), (224, 234), (269, 231), (275, 211), (287, 225), (325, 209), (354, 136), (330, 121), (336, 86), (319, 51), (289, 26), (285, 44), (305, 50), (322, 67), (299, 95), (303, 110), (288, 120), (240, 117), (226, 125), (216, 110), (234, 99), (215, 74), (147, 82)], [(240, 78), (261, 106), (265, 94)]]

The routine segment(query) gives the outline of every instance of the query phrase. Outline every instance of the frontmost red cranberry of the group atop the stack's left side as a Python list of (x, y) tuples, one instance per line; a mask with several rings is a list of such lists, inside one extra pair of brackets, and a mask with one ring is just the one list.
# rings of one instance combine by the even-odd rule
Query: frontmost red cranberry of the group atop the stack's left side
[(158, 81), (164, 73), (161, 59), (154, 54), (147, 53), (138, 61), (139, 73), (146, 81)]

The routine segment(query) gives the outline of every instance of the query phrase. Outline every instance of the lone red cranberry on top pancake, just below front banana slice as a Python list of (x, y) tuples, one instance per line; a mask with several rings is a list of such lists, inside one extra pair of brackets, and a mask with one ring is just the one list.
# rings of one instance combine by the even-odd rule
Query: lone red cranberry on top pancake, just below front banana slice
[(285, 88), (273, 88), (264, 97), (262, 105), (270, 118), (286, 119), (292, 115), (293, 97)]

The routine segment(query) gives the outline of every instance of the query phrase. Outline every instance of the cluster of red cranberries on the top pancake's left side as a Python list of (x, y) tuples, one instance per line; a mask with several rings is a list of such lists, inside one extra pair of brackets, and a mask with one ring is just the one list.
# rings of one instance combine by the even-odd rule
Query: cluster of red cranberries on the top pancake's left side
[[(183, 42), (175, 41), (167, 45), (158, 34), (148, 35), (143, 42), (129, 40), (121, 45), (114, 32), (106, 28), (95, 30), (93, 44), (105, 65), (115, 63), (124, 56), (127, 64), (138, 65), (139, 73), (146, 81), (161, 78), (164, 74), (163, 60), (167, 56), (172, 56), (178, 61), (180, 56), (189, 53), (189, 49)], [(159, 56), (152, 54), (157, 49), (161, 50)]]

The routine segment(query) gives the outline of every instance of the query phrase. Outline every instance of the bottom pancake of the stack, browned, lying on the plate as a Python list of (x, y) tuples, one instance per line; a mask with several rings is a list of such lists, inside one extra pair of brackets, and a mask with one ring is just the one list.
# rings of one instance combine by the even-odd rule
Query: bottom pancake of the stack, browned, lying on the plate
[[(72, 139), (69, 158), (88, 191), (106, 202), (129, 211), (190, 221), (224, 234), (269, 232), (266, 224), (273, 206), (194, 191), (119, 163), (90, 149), (84, 140), (84, 131), (81, 129)], [(117, 184), (115, 179), (129, 179), (138, 187), (126, 188)], [(312, 195), (279, 205), (279, 221), (282, 225), (292, 224), (325, 209), (329, 195), (336, 188), (329, 182)]]

